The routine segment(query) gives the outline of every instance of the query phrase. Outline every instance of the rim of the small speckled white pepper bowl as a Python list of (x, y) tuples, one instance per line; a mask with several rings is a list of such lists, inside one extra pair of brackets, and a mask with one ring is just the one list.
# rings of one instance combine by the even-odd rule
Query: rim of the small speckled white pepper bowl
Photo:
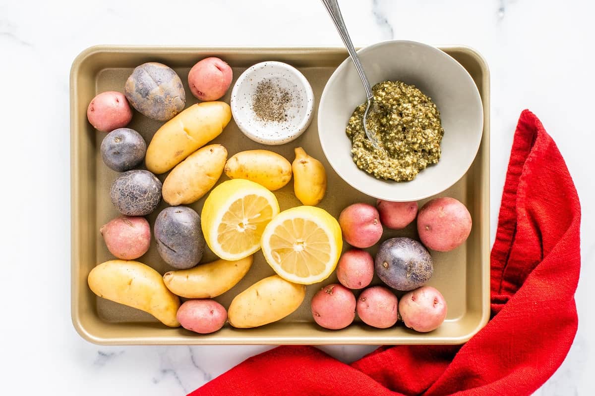
[[(237, 110), (237, 93), (240, 90), (240, 87), (245, 83), (246, 78), (248, 78), (256, 69), (262, 66), (273, 66), (275, 70), (278, 71), (287, 71), (293, 76), (296, 77), (296, 82), (302, 85), (304, 91), (306, 93), (305, 100), (306, 100), (306, 116), (303, 117), (299, 123), (295, 125), (294, 128), (288, 129), (286, 134), (287, 137), (281, 140), (269, 140), (267, 138), (262, 138), (258, 134), (255, 134), (254, 131), (256, 128), (250, 129), (244, 123), (240, 122), (236, 117), (236, 114), (239, 114)], [(233, 88), (231, 88), (231, 98), (230, 98), (230, 107), (231, 107), (231, 115), (233, 116), (234, 122), (236, 122), (237, 127), (249, 137), (251, 140), (267, 145), (280, 145), (289, 143), (296, 138), (298, 138), (303, 132), (308, 129), (310, 122), (314, 118), (314, 91), (312, 91), (312, 85), (310, 85), (308, 79), (300, 72), (298, 69), (293, 67), (292, 65), (286, 64), (285, 62), (279, 61), (263, 61), (258, 62), (257, 64), (253, 64), (249, 68), (240, 74), (240, 77), (237, 78), (236, 82), (233, 84)], [(289, 140), (287, 140), (289, 138)]]

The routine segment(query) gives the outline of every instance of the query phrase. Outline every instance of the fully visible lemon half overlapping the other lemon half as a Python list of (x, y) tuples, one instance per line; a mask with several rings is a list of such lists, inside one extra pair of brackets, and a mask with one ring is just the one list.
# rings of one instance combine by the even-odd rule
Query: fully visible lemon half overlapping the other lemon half
[(293, 283), (325, 280), (339, 261), (343, 239), (337, 220), (313, 206), (285, 210), (262, 234), (262, 253), (273, 270)]

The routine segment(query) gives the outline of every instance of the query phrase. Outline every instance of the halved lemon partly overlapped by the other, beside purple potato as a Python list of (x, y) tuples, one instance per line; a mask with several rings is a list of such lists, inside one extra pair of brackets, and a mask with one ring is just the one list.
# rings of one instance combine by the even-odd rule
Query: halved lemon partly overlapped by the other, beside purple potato
[(214, 254), (239, 260), (260, 249), (262, 232), (278, 213), (277, 198), (268, 189), (250, 180), (228, 180), (205, 200), (202, 233)]

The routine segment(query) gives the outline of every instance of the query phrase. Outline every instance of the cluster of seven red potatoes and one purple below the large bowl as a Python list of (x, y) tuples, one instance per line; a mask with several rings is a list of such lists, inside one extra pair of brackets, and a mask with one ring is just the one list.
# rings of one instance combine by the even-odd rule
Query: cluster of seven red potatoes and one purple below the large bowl
[[(380, 242), (384, 227), (400, 230), (417, 218), (419, 239), (385, 240), (372, 257), (363, 250)], [(353, 246), (337, 264), (338, 284), (329, 284), (312, 298), (314, 320), (338, 330), (355, 315), (372, 327), (389, 328), (402, 320), (419, 332), (433, 331), (446, 319), (447, 304), (434, 287), (425, 286), (433, 273), (428, 249), (448, 252), (462, 245), (471, 233), (471, 215), (455, 198), (440, 197), (418, 211), (417, 202), (377, 201), (376, 207), (356, 203), (339, 216), (346, 242)], [(377, 274), (386, 286), (368, 287)], [(390, 288), (389, 288), (390, 287)], [(365, 289), (367, 288), (367, 289)], [(365, 289), (356, 300), (352, 290)], [(400, 299), (393, 290), (405, 293)]]

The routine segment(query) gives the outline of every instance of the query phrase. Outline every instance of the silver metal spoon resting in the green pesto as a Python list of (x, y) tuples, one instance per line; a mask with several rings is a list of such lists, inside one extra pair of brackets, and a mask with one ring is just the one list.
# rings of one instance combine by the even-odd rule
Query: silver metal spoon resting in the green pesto
[(337, 0), (322, 0), (324, 7), (327, 8), (328, 15), (331, 16), (337, 31), (339, 31), (339, 36), (343, 40), (343, 44), (347, 48), (347, 52), (349, 52), (349, 56), (353, 61), (353, 65), (355, 65), (355, 69), (358, 71), (359, 78), (362, 79), (362, 84), (364, 84), (364, 89), (366, 90), (366, 97), (368, 100), (368, 104), (366, 105), (366, 110), (364, 112), (364, 132), (366, 132), (366, 136), (368, 140), (372, 143), (376, 150), (381, 150), (380, 144), (376, 140), (376, 136), (372, 134), (371, 131), (368, 130), (368, 113), (370, 107), (372, 107), (372, 103), (374, 102), (374, 94), (372, 93), (372, 87), (368, 81), (368, 77), (366, 77), (366, 73), (364, 71), (364, 66), (359, 61), (358, 53), (355, 52), (355, 48), (353, 47), (353, 43), (349, 37), (349, 33), (347, 33), (347, 27), (345, 26), (345, 22), (343, 21), (343, 16), (341, 15), (341, 10), (339, 9), (339, 4), (337, 4)]

